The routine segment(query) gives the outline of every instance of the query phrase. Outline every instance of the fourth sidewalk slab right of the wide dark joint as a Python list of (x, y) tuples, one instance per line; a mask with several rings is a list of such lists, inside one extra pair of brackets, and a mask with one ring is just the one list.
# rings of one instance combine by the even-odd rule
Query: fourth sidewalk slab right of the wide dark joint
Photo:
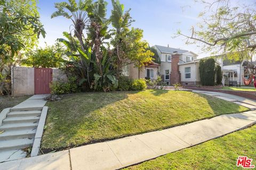
[(206, 141), (205, 138), (202, 138), (199, 135), (183, 130), (179, 126), (162, 130), (160, 132), (187, 147), (197, 145), (198, 143)]

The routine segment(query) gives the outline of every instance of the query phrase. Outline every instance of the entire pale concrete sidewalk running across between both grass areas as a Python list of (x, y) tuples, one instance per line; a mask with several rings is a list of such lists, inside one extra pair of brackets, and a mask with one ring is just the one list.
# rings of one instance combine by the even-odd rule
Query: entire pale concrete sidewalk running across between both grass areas
[(0, 169), (118, 169), (221, 137), (256, 123), (256, 111), (0, 164)]

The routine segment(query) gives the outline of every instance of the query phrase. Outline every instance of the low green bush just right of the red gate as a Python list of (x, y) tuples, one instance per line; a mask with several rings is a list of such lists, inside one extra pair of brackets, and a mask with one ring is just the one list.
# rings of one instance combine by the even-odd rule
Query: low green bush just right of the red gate
[(68, 82), (54, 81), (50, 89), (52, 95), (72, 94), (77, 91), (76, 77), (69, 77)]

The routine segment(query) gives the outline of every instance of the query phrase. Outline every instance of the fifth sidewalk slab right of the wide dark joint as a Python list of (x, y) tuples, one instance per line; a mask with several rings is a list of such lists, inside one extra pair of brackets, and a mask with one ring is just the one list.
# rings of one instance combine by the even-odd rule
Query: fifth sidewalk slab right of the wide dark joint
[(224, 134), (228, 134), (238, 129), (234, 126), (228, 126), (210, 120), (197, 121), (194, 123), (182, 125), (180, 126), (180, 128), (191, 133), (197, 134), (200, 137), (205, 138), (207, 140), (220, 137)]

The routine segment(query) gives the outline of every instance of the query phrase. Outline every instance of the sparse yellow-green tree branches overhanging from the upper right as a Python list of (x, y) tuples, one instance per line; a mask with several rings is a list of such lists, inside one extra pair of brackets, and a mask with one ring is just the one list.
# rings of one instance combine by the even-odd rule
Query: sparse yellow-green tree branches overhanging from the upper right
[(187, 44), (203, 43), (202, 50), (214, 53), (232, 54), (235, 60), (243, 51), (243, 58), (251, 60), (250, 52), (256, 49), (256, 3), (253, 1), (215, 0), (199, 1), (205, 5), (205, 10), (199, 16), (202, 23), (198, 29), (191, 29), (191, 36), (178, 31), (178, 35), (187, 38)]

